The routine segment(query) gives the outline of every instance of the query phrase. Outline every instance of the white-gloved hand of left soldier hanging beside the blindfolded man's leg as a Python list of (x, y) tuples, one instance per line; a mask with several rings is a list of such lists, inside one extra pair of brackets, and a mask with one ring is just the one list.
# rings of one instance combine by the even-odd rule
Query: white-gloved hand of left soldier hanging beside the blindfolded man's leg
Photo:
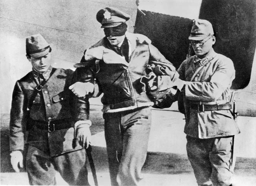
[(81, 145), (83, 148), (88, 148), (91, 144), (91, 131), (90, 125), (80, 124), (76, 129), (76, 147), (77, 144)]

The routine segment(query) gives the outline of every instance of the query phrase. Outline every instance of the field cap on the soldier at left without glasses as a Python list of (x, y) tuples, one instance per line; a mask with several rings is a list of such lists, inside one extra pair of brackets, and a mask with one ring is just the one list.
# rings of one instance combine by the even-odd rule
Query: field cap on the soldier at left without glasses
[(41, 34), (35, 34), (26, 38), (26, 52), (34, 58), (42, 57), (50, 52), (50, 45)]

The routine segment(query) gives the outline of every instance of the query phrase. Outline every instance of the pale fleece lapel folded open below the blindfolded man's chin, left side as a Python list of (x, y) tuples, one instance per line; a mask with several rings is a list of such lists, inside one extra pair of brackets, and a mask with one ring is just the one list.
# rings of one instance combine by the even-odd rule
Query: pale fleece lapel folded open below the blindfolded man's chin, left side
[(103, 61), (106, 64), (123, 64), (124, 66), (129, 65), (129, 63), (127, 63), (127, 61), (125, 61), (125, 58), (123, 56), (118, 55), (113, 50), (110, 50), (108, 48), (104, 49)]

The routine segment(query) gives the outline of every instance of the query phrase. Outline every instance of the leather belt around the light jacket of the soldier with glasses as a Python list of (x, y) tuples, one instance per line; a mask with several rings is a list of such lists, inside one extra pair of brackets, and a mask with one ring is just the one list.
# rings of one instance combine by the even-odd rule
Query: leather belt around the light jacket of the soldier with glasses
[(190, 104), (190, 108), (197, 110), (199, 112), (204, 112), (204, 111), (229, 110), (229, 109), (232, 109), (232, 106), (231, 104), (215, 104), (215, 105)]

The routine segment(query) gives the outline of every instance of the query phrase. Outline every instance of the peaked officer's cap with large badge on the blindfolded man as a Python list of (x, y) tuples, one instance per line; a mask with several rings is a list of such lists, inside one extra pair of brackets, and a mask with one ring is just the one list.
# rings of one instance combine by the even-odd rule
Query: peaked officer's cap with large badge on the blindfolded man
[(121, 23), (128, 21), (130, 19), (130, 15), (117, 8), (106, 7), (98, 11), (96, 19), (101, 23), (101, 28), (108, 28), (116, 27), (121, 25)]

